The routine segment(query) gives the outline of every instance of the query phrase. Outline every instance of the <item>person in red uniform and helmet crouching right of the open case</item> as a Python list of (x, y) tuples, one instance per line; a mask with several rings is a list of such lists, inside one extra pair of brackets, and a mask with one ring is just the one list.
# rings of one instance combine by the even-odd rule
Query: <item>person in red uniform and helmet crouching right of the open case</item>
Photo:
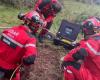
[[(63, 59), (62, 67), (67, 70), (67, 72), (64, 70), (65, 80), (71, 80), (71, 78), (72, 80), (100, 80), (100, 33), (95, 34), (100, 31), (100, 26), (91, 25), (90, 22), (87, 22), (86, 25), (85, 27), (83, 25), (84, 33), (86, 31), (85, 39), (81, 40), (79, 46), (71, 50)], [(88, 34), (90, 31), (88, 27), (93, 28), (91, 34)], [(81, 50), (83, 53), (87, 53), (87, 56), (84, 56)], [(80, 58), (83, 63), (75, 64)], [(74, 64), (69, 64), (69, 62), (74, 62)]]

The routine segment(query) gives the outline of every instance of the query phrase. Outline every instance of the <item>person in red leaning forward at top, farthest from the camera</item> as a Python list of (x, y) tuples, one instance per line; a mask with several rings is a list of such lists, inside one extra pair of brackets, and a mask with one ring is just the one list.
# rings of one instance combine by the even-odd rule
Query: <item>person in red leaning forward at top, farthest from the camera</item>
[[(38, 36), (39, 42), (43, 42), (45, 34), (50, 29), (54, 17), (56, 14), (61, 11), (61, 4), (58, 0), (38, 0), (35, 4), (33, 11), (39, 13), (40, 17), (43, 19), (42, 30)], [(19, 14), (18, 18), (23, 20), (24, 17), (30, 14), (32, 11), (29, 11), (26, 14)], [(40, 27), (34, 26), (33, 34), (35, 35)]]

